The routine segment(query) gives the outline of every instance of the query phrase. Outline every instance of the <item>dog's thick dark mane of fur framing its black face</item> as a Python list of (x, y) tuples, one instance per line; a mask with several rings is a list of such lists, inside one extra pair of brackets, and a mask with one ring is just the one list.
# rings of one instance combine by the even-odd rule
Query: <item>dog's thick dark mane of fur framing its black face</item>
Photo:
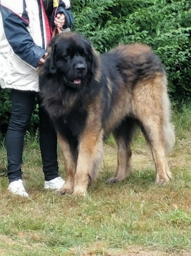
[[(53, 54), (53, 47), (58, 37), (60, 36), (54, 37), (49, 43), (45, 65), (39, 69), (40, 94), (43, 98), (43, 105), (52, 117), (67, 115), (74, 106), (78, 108), (82, 100), (83, 104), (86, 101), (88, 104), (99, 91), (101, 78), (100, 56), (92, 46), (92, 69), (88, 70), (86, 81), (80, 89), (68, 87), (61, 72), (56, 71), (55, 74), (51, 74), (47, 67), (49, 66), (49, 59), (51, 54)], [(76, 40), (84, 40), (84, 37), (80, 34), (73, 32), (65, 32), (62, 37), (71, 40), (77, 37)]]

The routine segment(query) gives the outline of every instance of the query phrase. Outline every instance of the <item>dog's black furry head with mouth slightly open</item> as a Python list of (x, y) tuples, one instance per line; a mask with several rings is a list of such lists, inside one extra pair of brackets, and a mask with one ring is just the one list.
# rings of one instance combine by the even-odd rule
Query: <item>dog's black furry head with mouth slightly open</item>
[(99, 65), (99, 57), (88, 39), (77, 33), (63, 32), (55, 36), (48, 52), (45, 73), (59, 76), (69, 87), (79, 88), (87, 83)]

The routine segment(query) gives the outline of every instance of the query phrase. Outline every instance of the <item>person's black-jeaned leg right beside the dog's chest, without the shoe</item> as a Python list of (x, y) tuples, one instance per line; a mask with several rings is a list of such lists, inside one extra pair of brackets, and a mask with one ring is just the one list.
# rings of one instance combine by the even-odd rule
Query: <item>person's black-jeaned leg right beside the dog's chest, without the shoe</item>
[(43, 173), (45, 175), (45, 181), (50, 181), (59, 177), (57, 162), (57, 136), (48, 113), (41, 105), (40, 96), (38, 95), (37, 97), (39, 104), (39, 134)]

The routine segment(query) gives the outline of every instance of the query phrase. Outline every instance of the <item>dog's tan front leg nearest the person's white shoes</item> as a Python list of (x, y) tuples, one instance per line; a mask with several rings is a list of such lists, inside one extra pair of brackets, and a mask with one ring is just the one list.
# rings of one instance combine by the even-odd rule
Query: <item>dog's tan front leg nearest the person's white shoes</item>
[[(76, 172), (76, 162), (77, 162), (77, 146), (69, 144), (63, 136), (57, 133), (57, 138), (59, 142), (59, 146), (62, 150), (62, 154), (64, 156), (64, 164), (65, 164), (65, 171), (66, 171), (66, 181), (64, 186), (57, 190), (57, 194), (71, 194), (73, 192), (74, 186), (74, 177)], [(75, 149), (76, 148), (76, 149)]]

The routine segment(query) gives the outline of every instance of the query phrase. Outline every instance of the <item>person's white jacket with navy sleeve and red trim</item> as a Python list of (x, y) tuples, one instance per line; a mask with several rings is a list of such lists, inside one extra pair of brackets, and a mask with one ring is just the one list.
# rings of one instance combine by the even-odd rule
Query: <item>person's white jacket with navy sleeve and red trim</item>
[[(70, 8), (70, 1), (60, 2)], [(38, 92), (37, 64), (50, 39), (46, 20), (41, 0), (0, 0), (2, 88)]]

